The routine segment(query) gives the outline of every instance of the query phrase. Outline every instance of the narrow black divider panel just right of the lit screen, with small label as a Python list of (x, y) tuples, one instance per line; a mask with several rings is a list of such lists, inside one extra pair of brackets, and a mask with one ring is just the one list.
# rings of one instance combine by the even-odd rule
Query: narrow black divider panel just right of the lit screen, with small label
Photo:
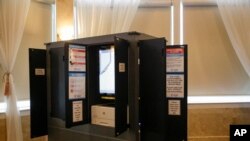
[(128, 45), (115, 38), (115, 135), (127, 129), (128, 106)]

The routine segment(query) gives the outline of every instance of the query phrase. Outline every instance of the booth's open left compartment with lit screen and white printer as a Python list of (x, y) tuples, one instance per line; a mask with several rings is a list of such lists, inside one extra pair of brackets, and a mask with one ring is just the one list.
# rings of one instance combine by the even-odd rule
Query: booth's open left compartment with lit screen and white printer
[[(93, 123), (114, 127), (114, 135), (127, 129), (128, 43), (118, 44), (122, 42), (118, 37), (113, 40), (69, 41), (63, 47), (47, 49), (51, 73), (50, 115), (63, 120), (66, 128)], [(106, 64), (102, 62), (107, 59)], [(102, 80), (102, 74), (109, 71), (107, 67), (113, 70)]]

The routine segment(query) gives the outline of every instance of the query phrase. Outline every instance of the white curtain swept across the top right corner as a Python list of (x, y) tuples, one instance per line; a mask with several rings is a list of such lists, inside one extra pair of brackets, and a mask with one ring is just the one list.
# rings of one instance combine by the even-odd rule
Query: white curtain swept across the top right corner
[(250, 0), (217, 0), (233, 48), (250, 77)]

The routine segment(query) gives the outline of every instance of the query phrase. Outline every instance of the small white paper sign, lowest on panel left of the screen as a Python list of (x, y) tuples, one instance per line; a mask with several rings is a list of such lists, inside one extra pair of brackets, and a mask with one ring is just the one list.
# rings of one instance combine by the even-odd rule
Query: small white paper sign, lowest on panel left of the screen
[(73, 122), (79, 122), (83, 120), (83, 114), (82, 114), (82, 101), (73, 101)]

